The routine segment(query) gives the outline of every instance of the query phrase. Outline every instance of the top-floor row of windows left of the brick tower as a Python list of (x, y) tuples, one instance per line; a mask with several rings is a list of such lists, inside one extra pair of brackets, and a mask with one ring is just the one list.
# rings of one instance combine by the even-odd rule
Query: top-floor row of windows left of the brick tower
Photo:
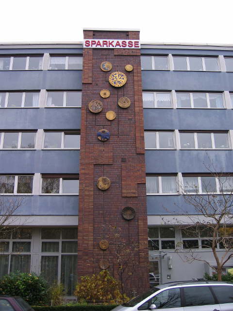
[[(0, 57), (0, 70), (41, 70), (43, 56), (3, 56)], [(82, 56), (50, 56), (49, 69), (82, 69)]]

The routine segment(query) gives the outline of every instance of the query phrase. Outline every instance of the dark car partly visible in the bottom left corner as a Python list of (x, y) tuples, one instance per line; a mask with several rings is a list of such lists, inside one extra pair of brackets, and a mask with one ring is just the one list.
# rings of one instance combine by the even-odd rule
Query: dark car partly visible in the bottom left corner
[(0, 311), (34, 311), (21, 297), (0, 295)]

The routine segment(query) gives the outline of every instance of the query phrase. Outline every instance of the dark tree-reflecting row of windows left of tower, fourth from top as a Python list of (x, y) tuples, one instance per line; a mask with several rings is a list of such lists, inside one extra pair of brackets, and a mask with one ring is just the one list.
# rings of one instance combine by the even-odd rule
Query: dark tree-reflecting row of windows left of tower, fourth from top
[[(0, 175), (1, 194), (32, 194), (33, 175)], [(41, 176), (40, 194), (79, 194), (79, 175)]]

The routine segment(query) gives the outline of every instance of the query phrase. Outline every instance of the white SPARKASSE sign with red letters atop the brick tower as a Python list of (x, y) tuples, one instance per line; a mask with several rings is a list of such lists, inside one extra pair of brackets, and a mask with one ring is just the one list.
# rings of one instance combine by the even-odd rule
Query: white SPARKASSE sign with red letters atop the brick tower
[(91, 49), (140, 49), (139, 40), (86, 39), (83, 48)]

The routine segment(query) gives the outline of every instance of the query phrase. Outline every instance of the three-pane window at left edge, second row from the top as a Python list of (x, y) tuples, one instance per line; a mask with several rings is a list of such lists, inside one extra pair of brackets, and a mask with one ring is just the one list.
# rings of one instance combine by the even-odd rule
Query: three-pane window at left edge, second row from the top
[(0, 108), (39, 107), (40, 92), (0, 92)]

